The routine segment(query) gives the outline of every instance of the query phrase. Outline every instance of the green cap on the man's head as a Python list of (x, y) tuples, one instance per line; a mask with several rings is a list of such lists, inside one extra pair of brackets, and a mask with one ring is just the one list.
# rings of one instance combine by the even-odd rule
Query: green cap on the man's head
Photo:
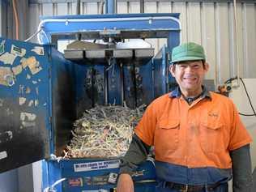
[(173, 48), (172, 63), (205, 60), (203, 47), (195, 43), (185, 43)]

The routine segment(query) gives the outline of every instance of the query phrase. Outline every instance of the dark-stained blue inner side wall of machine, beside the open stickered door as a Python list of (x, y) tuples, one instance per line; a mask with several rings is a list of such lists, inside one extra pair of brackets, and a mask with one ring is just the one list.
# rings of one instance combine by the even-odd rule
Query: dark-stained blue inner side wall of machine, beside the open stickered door
[(64, 59), (53, 47), (50, 49), (50, 92), (51, 92), (51, 153), (60, 156), (66, 142), (70, 139), (70, 126), (76, 119), (76, 80), (78, 65)]

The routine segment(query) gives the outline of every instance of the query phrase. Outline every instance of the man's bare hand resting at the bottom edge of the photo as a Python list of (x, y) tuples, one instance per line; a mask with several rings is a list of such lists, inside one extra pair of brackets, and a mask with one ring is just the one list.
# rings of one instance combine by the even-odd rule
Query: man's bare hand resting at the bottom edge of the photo
[(117, 192), (134, 192), (134, 182), (129, 174), (122, 173), (117, 182)]

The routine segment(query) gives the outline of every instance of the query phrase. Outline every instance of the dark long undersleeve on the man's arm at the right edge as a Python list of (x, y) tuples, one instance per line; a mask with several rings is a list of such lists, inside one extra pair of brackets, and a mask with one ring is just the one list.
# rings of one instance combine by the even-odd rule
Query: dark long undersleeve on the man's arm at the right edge
[(230, 152), (233, 164), (233, 192), (252, 192), (250, 145)]

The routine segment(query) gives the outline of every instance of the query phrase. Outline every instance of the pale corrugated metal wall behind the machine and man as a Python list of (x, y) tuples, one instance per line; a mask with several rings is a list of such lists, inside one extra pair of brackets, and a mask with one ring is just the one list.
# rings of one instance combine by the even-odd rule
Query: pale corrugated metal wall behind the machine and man
[[(40, 3), (48, 2), (48, 3)], [(81, 0), (81, 14), (100, 14), (102, 1)], [(237, 75), (256, 78), (256, 1), (237, 2), (237, 41), (233, 3), (228, 1), (145, 1), (145, 12), (181, 13), (181, 41), (194, 41), (206, 48), (210, 72), (207, 79), (224, 83)], [(29, 29), (36, 32), (39, 15), (74, 15), (75, 1), (40, 1), (29, 3)], [(139, 1), (117, 0), (117, 13), (139, 13)], [(159, 49), (164, 41), (151, 41)], [(238, 44), (238, 50), (236, 47)]]

